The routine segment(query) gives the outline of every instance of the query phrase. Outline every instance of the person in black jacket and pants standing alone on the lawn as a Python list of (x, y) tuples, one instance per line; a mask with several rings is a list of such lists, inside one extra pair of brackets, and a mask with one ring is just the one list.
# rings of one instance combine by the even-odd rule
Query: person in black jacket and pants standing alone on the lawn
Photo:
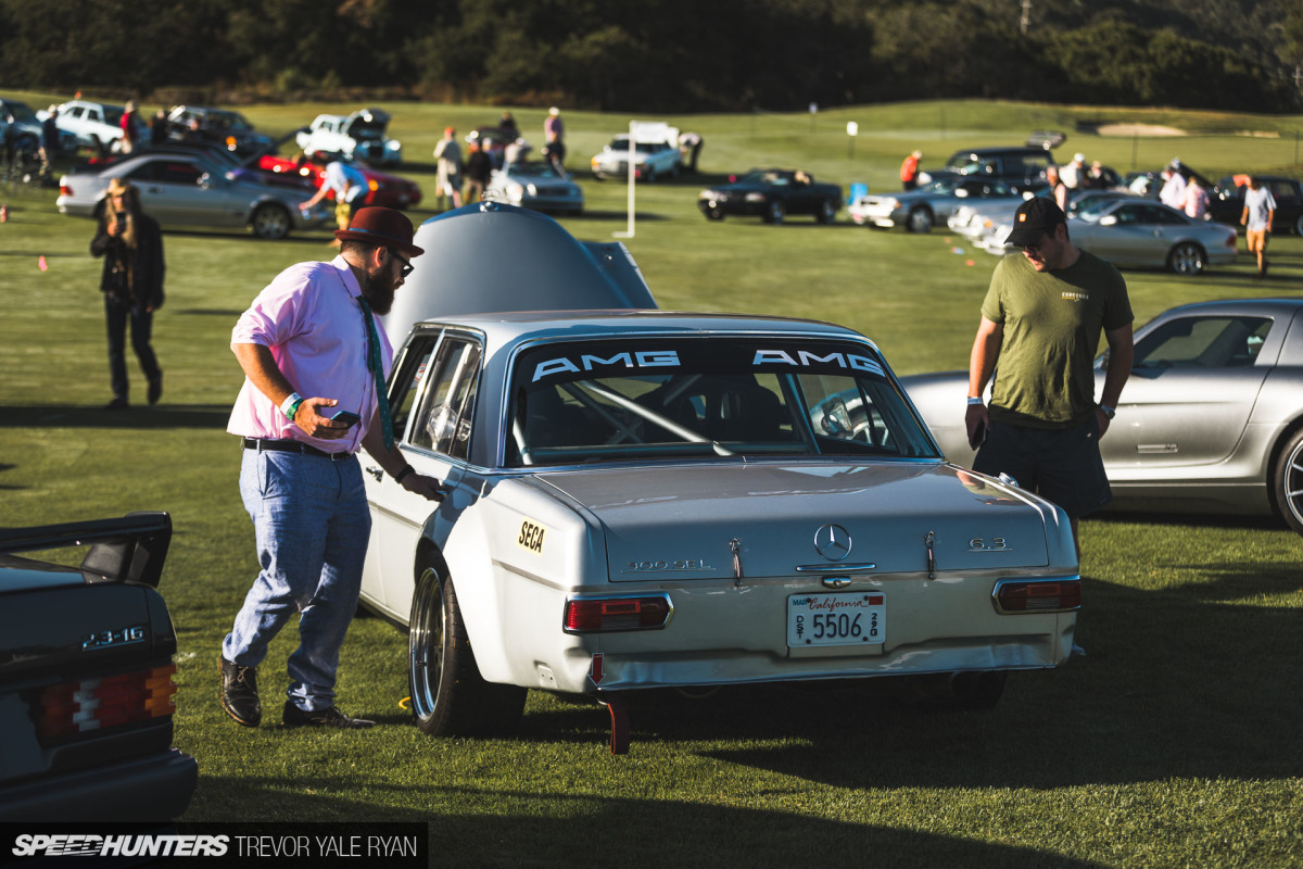
[(99, 289), (104, 293), (104, 315), (108, 321), (108, 371), (113, 400), (107, 410), (128, 406), (126, 323), (132, 323), (132, 349), (141, 361), (149, 380), (150, 404), (163, 395), (163, 371), (159, 370), (150, 330), (154, 311), (163, 306), (163, 235), (159, 224), (141, 210), (139, 193), (130, 184), (113, 178), (108, 184), (104, 212), (99, 219), (90, 251), (104, 258)]

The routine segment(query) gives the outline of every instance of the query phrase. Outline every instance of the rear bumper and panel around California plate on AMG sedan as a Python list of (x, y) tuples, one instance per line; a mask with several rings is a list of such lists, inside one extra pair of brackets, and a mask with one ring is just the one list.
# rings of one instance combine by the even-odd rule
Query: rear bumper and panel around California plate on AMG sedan
[(486, 670), (491, 658), (485, 645), (491, 641), (481, 644), (473, 631), (472, 645), (477, 659), (486, 653), (481, 671), (490, 681), (571, 693), (1036, 670), (1061, 666), (1071, 655), (1075, 611), (1001, 615), (992, 606), (994, 573), (937, 581), (924, 576), (876, 577), (847, 591), (887, 597), (885, 644), (872, 651), (788, 648), (787, 598), (825, 591), (809, 580), (620, 588), (620, 595), (668, 594), (668, 624), (659, 631), (563, 634), (567, 597), (584, 594), (512, 578), (504, 599), (513, 606), (499, 634), (502, 668)]

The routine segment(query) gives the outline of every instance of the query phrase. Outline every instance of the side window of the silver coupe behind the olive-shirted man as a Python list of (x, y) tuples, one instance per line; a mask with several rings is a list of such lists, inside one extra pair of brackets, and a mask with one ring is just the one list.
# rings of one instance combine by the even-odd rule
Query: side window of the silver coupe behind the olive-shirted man
[(1182, 317), (1136, 341), (1135, 367), (1248, 367), (1270, 330), (1267, 317)]

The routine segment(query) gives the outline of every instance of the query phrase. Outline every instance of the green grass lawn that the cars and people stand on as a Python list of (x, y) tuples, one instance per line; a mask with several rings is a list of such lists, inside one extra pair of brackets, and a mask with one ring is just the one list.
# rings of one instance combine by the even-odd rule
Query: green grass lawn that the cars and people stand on
[[(246, 115), (278, 132), (331, 108), (351, 107)], [(465, 130), (498, 112), (391, 108), (409, 160), (400, 173), (427, 197), (429, 154), (443, 126)], [(516, 116), (541, 138), (542, 112)], [(568, 113), (568, 163), (586, 169), (628, 120)], [(779, 164), (843, 186), (894, 189), (912, 147), (932, 165), (960, 146), (1020, 142), (1033, 128), (1066, 129), (1065, 151), (1123, 171), (1135, 154), (1140, 168), (1179, 155), (1213, 177), (1299, 175), (1294, 130), (1303, 125), (980, 102), (665, 120), (701, 132), (706, 145), (705, 178), (637, 190), (627, 245), (661, 305), (844, 323), (876, 339), (899, 374), (967, 365), (993, 257), (939, 229), (908, 236), (803, 218), (782, 228), (710, 224), (696, 208), (704, 180)], [(860, 124), (853, 158), (847, 120)], [(1105, 138), (1072, 132), (1078, 120), (1201, 134)], [(588, 212), (563, 223), (607, 241), (625, 227), (625, 186), (584, 171), (580, 180)], [(52, 192), (0, 192), (10, 211), (0, 225), (0, 524), (172, 513), (162, 590), (180, 634), (176, 744), (201, 769), (185, 819), (421, 821), (435, 862), (448, 866), (1303, 865), (1303, 541), (1269, 519), (1084, 521), (1085, 657), (1015, 675), (985, 714), (923, 714), (855, 687), (734, 689), (700, 701), (661, 694), (633, 707), (633, 748), (612, 758), (598, 709), (532, 692), (517, 739), (431, 740), (399, 705), (405, 638), (360, 619), (343, 651), (340, 702), (379, 728), (236, 727), (216, 702), (216, 657), (257, 564), (236, 486), (240, 449), (224, 433), (241, 383), (227, 343), (272, 275), (332, 254), (328, 235), (261, 242), (167, 232), (168, 301), (155, 319), (163, 403), (106, 414), (94, 227), (59, 215)], [(429, 216), (429, 206), (413, 216)], [(1303, 289), (1303, 240), (1273, 238), (1272, 255), (1267, 281), (1244, 255), (1199, 279), (1127, 271), (1138, 322), (1186, 301)], [(139, 401), (143, 382), (134, 361), (129, 369)], [(262, 668), (270, 719), (293, 633)]]

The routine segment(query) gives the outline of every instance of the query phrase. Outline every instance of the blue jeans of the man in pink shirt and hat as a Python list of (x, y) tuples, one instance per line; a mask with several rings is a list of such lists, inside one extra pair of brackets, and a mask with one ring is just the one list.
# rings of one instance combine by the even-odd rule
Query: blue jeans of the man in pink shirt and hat
[(331, 461), (245, 449), (240, 495), (253, 519), (261, 572), (222, 644), (222, 655), (255, 667), (298, 612), (287, 696), (305, 711), (335, 702), (339, 649), (357, 610), (371, 515), (357, 457)]

